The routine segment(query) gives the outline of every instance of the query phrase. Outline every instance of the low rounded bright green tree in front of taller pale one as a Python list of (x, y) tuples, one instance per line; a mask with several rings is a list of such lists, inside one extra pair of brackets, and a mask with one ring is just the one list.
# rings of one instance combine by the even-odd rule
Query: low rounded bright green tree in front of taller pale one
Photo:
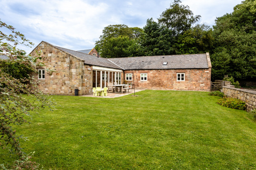
[(139, 44), (129, 37), (112, 37), (102, 45), (101, 56), (105, 58), (135, 57), (139, 53)]

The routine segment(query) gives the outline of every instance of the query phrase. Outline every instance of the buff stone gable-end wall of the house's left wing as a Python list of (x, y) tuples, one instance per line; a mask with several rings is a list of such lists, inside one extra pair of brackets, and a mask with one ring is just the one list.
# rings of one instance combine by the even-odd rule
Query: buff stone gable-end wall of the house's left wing
[[(45, 74), (45, 79), (39, 79), (38, 86), (44, 93), (58, 95), (74, 95), (79, 89), (79, 95), (92, 92), (92, 66), (84, 65), (84, 61), (77, 59), (52, 45), (41, 42), (33, 51), (42, 50), (44, 57), (43, 68), (54, 68), (52, 75)], [(88, 69), (90, 68), (90, 69)]]

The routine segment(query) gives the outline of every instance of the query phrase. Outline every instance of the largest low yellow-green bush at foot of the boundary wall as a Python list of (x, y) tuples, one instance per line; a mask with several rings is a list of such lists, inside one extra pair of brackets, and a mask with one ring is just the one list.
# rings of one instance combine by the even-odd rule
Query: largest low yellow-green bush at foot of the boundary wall
[(225, 106), (227, 108), (240, 109), (240, 110), (246, 109), (246, 105), (244, 101), (240, 99), (229, 98), (229, 97), (224, 97), (222, 99), (219, 99), (218, 104)]

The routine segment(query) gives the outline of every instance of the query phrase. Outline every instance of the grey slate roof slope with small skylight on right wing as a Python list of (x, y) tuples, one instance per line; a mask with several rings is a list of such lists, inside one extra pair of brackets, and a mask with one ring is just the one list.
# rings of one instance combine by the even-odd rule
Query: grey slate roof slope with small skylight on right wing
[[(207, 54), (185, 54), (109, 59), (125, 70), (209, 68)], [(167, 62), (167, 65), (163, 65)]]

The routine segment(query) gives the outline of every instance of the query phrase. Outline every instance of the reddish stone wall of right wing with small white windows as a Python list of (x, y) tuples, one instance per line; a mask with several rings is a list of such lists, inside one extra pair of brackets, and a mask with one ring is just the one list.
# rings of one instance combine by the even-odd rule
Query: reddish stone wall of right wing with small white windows
[[(139, 89), (166, 89), (185, 91), (210, 91), (211, 89), (211, 68), (130, 70), (124, 71), (124, 77), (126, 73), (134, 73), (135, 88)], [(148, 74), (147, 81), (141, 81), (141, 73)], [(185, 73), (185, 81), (177, 81), (177, 73)]]

